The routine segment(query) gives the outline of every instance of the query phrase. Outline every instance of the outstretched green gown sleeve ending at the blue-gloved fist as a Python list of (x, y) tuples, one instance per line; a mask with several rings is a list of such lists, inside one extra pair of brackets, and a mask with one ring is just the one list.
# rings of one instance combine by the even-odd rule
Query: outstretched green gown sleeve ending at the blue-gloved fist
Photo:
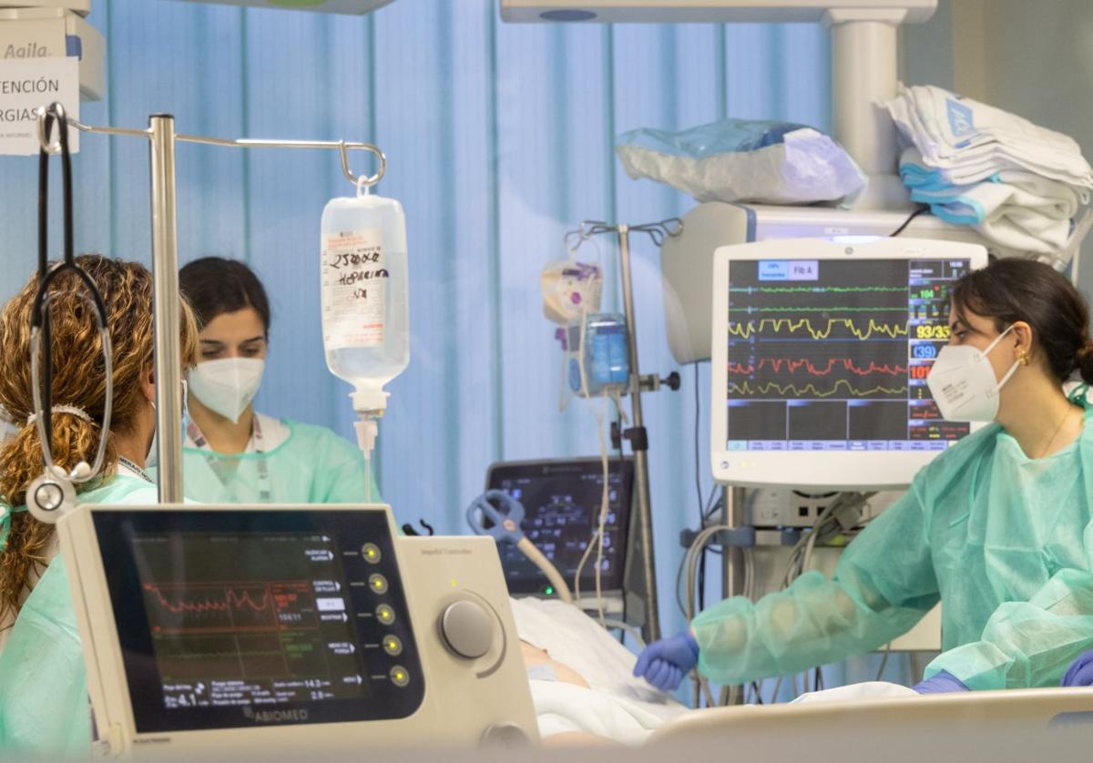
[(916, 478), (847, 547), (831, 580), (809, 572), (757, 602), (733, 597), (703, 611), (691, 624), (700, 672), (725, 684), (787, 676), (909, 631), (940, 599), (922, 494)]

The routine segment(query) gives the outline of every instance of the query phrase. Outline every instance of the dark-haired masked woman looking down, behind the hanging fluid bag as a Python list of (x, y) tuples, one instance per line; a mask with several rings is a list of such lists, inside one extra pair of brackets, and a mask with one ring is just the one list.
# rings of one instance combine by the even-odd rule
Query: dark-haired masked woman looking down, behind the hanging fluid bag
[(365, 490), (356, 446), (326, 427), (255, 411), (270, 337), (269, 300), (255, 273), (237, 260), (204, 257), (184, 267), (178, 280), (201, 331), (198, 365), (188, 375), (186, 496), (202, 503), (378, 502), (374, 483), (371, 493)]

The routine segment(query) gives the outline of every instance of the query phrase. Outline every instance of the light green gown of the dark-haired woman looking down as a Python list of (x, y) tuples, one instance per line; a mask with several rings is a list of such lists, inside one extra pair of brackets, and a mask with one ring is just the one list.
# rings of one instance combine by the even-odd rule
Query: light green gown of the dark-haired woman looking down
[[(365, 503), (361, 450), (330, 430), (282, 420), (287, 439), (267, 453), (183, 448), (187, 498), (199, 503)], [(265, 498), (265, 500), (263, 500)], [(379, 503), (372, 482), (371, 503)]]

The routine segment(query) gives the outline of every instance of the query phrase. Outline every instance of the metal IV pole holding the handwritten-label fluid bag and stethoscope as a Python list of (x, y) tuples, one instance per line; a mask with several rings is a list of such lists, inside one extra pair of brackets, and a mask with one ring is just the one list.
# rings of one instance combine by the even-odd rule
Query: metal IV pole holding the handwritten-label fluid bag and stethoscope
[[(38, 142), (50, 154), (60, 153), (59, 140), (46, 134), (46, 109), (39, 108)], [(387, 157), (372, 143), (346, 141), (254, 140), (185, 136), (175, 132), (169, 114), (149, 116), (146, 130), (120, 127), (91, 127), (69, 118), (68, 124), (82, 132), (145, 138), (150, 144), (152, 191), (152, 305), (154, 327), (154, 371), (156, 432), (160, 463), (160, 503), (183, 503), (183, 369), (179, 357), (178, 294), (178, 203), (175, 197), (175, 146), (177, 143), (202, 143), (239, 149), (332, 149), (341, 153), (342, 173), (354, 185), (374, 186), (387, 171)], [(58, 131), (59, 133), (59, 131)], [(379, 166), (371, 177), (357, 177), (350, 171), (349, 150), (360, 149), (376, 156)]]

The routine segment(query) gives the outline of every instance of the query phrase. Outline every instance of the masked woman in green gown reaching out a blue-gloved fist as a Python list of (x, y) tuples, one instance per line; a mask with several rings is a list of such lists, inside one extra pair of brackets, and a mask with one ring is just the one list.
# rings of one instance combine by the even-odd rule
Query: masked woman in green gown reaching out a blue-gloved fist
[[(924, 468), (843, 553), (756, 602), (726, 599), (649, 645), (635, 674), (724, 684), (877, 649), (942, 603), (921, 693), (1057, 686), (1093, 647), (1089, 310), (1050, 267), (999, 260), (954, 284), (928, 379), (944, 418), (992, 422)], [(802, 454), (802, 458), (807, 457)]]

